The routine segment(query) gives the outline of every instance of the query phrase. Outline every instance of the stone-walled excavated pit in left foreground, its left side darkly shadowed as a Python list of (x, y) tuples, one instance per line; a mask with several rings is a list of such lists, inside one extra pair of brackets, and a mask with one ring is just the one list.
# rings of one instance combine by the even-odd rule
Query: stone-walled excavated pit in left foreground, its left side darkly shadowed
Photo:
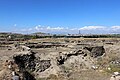
[(21, 72), (43, 72), (51, 66), (51, 60), (40, 60), (34, 52), (14, 55), (13, 59)]

